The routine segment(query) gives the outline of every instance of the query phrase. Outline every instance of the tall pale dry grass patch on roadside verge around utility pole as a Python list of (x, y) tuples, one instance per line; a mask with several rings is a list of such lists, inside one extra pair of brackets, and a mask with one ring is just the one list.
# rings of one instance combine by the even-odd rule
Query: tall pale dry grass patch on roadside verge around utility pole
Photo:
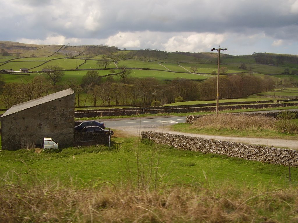
[(244, 114), (219, 114), (206, 115), (196, 120), (193, 124), (198, 128), (230, 128), (235, 130), (245, 129), (275, 129), (276, 119), (263, 115), (244, 115)]

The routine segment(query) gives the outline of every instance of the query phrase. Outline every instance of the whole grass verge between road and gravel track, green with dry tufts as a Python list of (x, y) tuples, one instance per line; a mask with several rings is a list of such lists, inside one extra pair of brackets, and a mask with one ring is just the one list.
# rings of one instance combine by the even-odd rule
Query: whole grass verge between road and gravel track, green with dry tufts
[(219, 114), (204, 116), (193, 124), (179, 123), (169, 128), (195, 134), (298, 140), (297, 119), (277, 120), (264, 116)]

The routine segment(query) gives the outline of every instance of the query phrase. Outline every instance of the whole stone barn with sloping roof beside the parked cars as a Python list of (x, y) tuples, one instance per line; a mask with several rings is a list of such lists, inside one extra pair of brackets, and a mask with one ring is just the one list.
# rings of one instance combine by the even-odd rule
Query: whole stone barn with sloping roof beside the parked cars
[(59, 147), (73, 145), (75, 94), (66, 89), (17, 104), (1, 116), (2, 150), (35, 148), (44, 137), (55, 139)]

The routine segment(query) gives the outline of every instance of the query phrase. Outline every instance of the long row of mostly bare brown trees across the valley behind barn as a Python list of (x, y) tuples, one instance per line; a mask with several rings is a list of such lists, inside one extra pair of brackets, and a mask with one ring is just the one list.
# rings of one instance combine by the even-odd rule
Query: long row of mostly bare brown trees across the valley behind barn
[[(68, 79), (66, 83), (61, 83), (64, 72), (61, 67), (52, 66), (44, 69), (44, 74), (32, 80), (26, 77), (21, 83), (5, 83), (0, 78), (2, 107), (8, 109), (15, 104), (67, 88), (75, 92), (75, 106), (160, 106), (178, 101), (216, 99), (216, 77), (205, 81), (176, 78), (161, 83), (152, 77), (132, 77), (131, 70), (125, 66), (119, 67), (119, 71), (117, 75), (102, 78), (97, 70), (89, 70), (81, 82)], [(220, 76), (219, 97), (247, 97), (274, 89), (275, 84), (269, 76), (261, 78), (249, 74), (225, 74)]]

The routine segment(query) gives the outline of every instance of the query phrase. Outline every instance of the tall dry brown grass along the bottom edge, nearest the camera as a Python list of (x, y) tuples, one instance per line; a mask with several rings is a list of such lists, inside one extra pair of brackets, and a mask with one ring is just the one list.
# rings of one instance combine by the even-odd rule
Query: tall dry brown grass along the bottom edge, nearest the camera
[(77, 189), (32, 179), (0, 187), (0, 222), (296, 222), (298, 191), (102, 185)]

